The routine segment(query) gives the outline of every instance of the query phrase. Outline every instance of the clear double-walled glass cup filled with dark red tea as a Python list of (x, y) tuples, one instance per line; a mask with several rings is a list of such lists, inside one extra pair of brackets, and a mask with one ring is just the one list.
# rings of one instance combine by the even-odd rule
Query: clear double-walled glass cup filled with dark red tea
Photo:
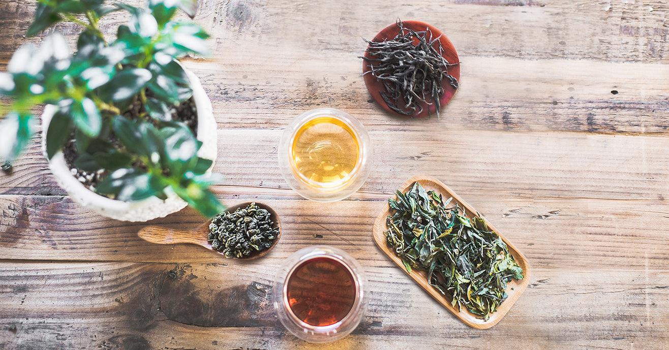
[(300, 339), (320, 343), (358, 326), (369, 291), (359, 263), (331, 246), (310, 246), (284, 261), (274, 280), (274, 310)]

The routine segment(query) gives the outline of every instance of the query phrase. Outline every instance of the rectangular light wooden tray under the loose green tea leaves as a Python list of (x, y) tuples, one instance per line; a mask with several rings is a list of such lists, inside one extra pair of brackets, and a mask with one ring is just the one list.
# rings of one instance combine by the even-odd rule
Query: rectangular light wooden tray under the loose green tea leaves
[(374, 241), (376, 242), (377, 246), (383, 251), (391, 260), (399, 266), (402, 271), (407, 273), (413, 281), (415, 281), (419, 286), (423, 287), (429, 295), (432, 295), (432, 297), (438, 301), (441, 305), (446, 307), (448, 311), (456, 315), (458, 319), (460, 319), (462, 322), (466, 323), (467, 325), (478, 328), (478, 329), (486, 329), (490, 328), (496, 323), (498, 323), (504, 315), (508, 312), (508, 310), (511, 308), (511, 306), (516, 302), (516, 299), (520, 297), (520, 294), (527, 288), (527, 285), (529, 284), (530, 281), (530, 267), (529, 263), (527, 262), (527, 258), (525, 258), (516, 247), (511, 244), (496, 228), (494, 228), (485, 218), (480, 216), (478, 212), (472, 208), (469, 204), (467, 204), (460, 196), (455, 194), (448, 186), (446, 186), (444, 183), (442, 183), (439, 180), (436, 180), (435, 178), (432, 178), (430, 176), (413, 176), (407, 182), (405, 182), (399, 190), (401, 192), (407, 192), (409, 190), (409, 187), (413, 185), (414, 182), (418, 182), (425, 188), (426, 191), (435, 191), (438, 194), (442, 194), (444, 196), (444, 200), (446, 200), (449, 197), (452, 197), (453, 200), (451, 201), (450, 204), (458, 204), (460, 208), (464, 208), (464, 214), (468, 218), (473, 218), (474, 216), (478, 216), (484, 220), (486, 223), (486, 226), (488, 227), (488, 230), (496, 232), (500, 238), (506, 243), (508, 246), (508, 251), (513, 255), (514, 259), (516, 259), (516, 262), (518, 262), (518, 266), (520, 266), (520, 269), (522, 269), (522, 274), (523, 274), (523, 279), (520, 281), (516, 281), (513, 279), (508, 283), (506, 286), (506, 293), (508, 294), (508, 298), (504, 302), (502, 302), (501, 305), (497, 308), (497, 311), (494, 313), (490, 314), (490, 318), (488, 318), (488, 321), (484, 321), (482, 319), (478, 319), (476, 315), (473, 313), (470, 313), (466, 308), (462, 308), (462, 311), (458, 311), (455, 307), (452, 307), (451, 305), (451, 299), (449, 297), (446, 297), (439, 293), (434, 287), (429, 285), (427, 281), (427, 273), (425, 271), (417, 271), (416, 269), (413, 269), (411, 273), (408, 273), (406, 268), (404, 267), (401, 258), (395, 254), (395, 251), (389, 248), (389, 246), (386, 243), (385, 240), (385, 234), (383, 233), (385, 230), (387, 230), (386, 226), (386, 218), (388, 215), (391, 214), (390, 212), (390, 206), (386, 203), (385, 208), (379, 213), (379, 216), (377, 216), (376, 220), (374, 221), (374, 228), (373, 228), (373, 236), (374, 236)]

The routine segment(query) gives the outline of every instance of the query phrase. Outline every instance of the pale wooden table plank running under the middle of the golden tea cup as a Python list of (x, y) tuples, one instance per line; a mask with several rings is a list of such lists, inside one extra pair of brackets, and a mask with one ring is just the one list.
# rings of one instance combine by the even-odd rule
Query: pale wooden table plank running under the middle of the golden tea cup
[[(214, 170), (226, 186), (286, 189), (276, 147), (282, 130), (219, 130)], [(518, 196), (662, 200), (667, 136), (443, 130), (424, 122), (409, 130), (370, 132), (373, 170), (362, 192), (390, 194), (414, 174), (435, 176), (457, 192)], [(61, 195), (44, 160), (31, 151), (2, 194)], [(41, 164), (41, 165), (40, 165)]]

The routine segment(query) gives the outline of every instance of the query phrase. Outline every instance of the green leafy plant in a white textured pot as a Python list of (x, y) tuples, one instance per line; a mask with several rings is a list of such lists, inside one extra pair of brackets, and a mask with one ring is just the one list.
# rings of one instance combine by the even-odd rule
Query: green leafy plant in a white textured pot
[[(73, 200), (119, 220), (143, 221), (190, 204), (205, 216), (223, 210), (209, 186), (216, 157), (211, 103), (199, 80), (177, 61), (206, 55), (207, 33), (175, 21), (196, 0), (149, 0), (146, 8), (104, 0), (39, 0), (27, 35), (60, 21), (84, 27), (71, 55), (58, 32), (39, 47), (19, 47), (0, 73), (0, 94), (12, 102), (0, 122), (0, 158), (13, 160), (42, 114), (43, 153)], [(100, 17), (128, 11), (116, 37), (105, 39)], [(197, 138), (196, 138), (197, 136)]]

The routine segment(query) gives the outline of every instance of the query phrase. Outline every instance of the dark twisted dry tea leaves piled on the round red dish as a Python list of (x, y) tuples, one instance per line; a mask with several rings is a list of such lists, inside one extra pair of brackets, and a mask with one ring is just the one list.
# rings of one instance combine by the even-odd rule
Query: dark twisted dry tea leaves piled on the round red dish
[[(444, 48), (440, 36), (432, 37), (432, 32), (413, 31), (397, 21), (399, 33), (392, 40), (367, 41), (367, 53), (361, 57), (369, 62), (370, 70), (365, 74), (374, 75), (383, 83), (381, 98), (387, 106), (405, 116), (416, 116), (423, 112), (423, 106), (435, 104), (439, 117), (440, 97), (444, 95), (443, 79), (458, 88), (458, 79), (448, 73), (450, 65), (443, 56)], [(428, 113), (432, 112), (428, 108)]]

